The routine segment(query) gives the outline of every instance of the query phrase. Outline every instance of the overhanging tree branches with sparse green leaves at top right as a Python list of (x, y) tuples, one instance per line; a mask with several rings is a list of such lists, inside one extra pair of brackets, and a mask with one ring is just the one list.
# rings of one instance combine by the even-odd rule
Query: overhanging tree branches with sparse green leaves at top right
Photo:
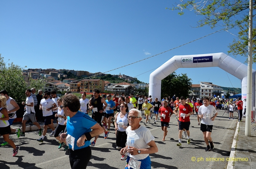
[[(234, 39), (229, 44), (229, 54), (235, 57), (241, 55), (248, 57), (248, 22), (249, 22), (249, 1), (248, 0), (183, 0), (178, 1), (172, 10), (179, 10), (178, 14), (183, 15), (185, 9), (194, 11), (196, 15), (201, 15), (197, 22), (197, 27), (210, 26), (211, 28), (222, 26), (233, 28), (238, 27), (238, 40)], [(256, 0), (253, 0), (253, 9), (256, 9)], [(253, 62), (256, 62), (256, 15), (253, 15)]]

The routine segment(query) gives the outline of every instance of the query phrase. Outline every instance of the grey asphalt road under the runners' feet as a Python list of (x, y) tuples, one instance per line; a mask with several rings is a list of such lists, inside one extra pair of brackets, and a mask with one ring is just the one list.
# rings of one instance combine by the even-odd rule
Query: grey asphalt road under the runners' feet
[[(226, 167), (226, 158), (229, 157), (230, 149), (236, 129), (236, 120), (229, 120), (227, 115), (222, 116), (223, 111), (214, 121), (212, 138), (215, 145), (213, 151), (205, 152), (203, 134), (200, 126), (197, 125), (196, 117), (191, 117), (190, 138), (191, 143), (187, 144), (187, 139), (182, 139), (182, 146), (177, 147), (178, 128), (177, 119), (172, 116), (166, 141), (162, 142), (163, 131), (160, 122), (149, 124), (147, 128), (155, 137), (158, 146), (158, 153), (150, 154), (152, 169), (177, 169), (177, 168), (218, 168)], [(237, 113), (235, 113), (237, 115)], [(144, 125), (142, 119), (141, 125)], [(123, 169), (125, 161), (120, 160), (119, 150), (116, 150), (116, 137), (111, 127), (109, 138), (103, 139), (102, 135), (96, 142), (95, 147), (91, 147), (92, 157), (88, 169)], [(26, 137), (17, 138), (16, 134), (10, 138), (20, 146), (19, 153), (12, 157), (12, 148), (9, 146), (0, 147), (0, 169), (70, 169), (68, 155), (65, 155), (64, 148), (58, 149), (59, 143), (54, 137), (49, 137), (50, 130), (46, 134), (44, 143), (39, 143), (38, 131), (26, 132)], [(3, 137), (0, 137), (3, 142)], [(195, 157), (195, 161), (194, 160)], [(215, 158), (215, 161), (207, 161), (207, 158)], [(222, 159), (224, 161), (222, 161)], [(200, 161), (199, 161), (200, 159)]]

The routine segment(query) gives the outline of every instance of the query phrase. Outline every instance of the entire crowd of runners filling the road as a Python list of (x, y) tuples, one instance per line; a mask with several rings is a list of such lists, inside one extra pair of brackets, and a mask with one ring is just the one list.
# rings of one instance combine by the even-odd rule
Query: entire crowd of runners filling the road
[[(179, 98), (174, 95), (172, 98), (166, 97), (159, 101), (158, 98), (151, 96), (136, 95), (134, 97), (133, 93), (129, 96), (122, 93), (118, 97), (111, 94), (100, 95), (98, 89), (94, 89), (90, 99), (86, 98), (85, 92), (82, 93), (82, 98), (78, 99), (70, 92), (59, 98), (56, 91), (42, 92), (41, 90), (38, 91), (38, 95), (42, 95), (39, 98), (38, 95), (35, 96), (34, 88), (27, 89), (25, 95), (26, 101), (22, 102), (25, 106), (22, 130), (13, 129), (10, 126), (20, 107), (7, 91), (0, 91), (0, 135), (5, 141), (1, 146), (11, 145), (13, 156), (15, 156), (20, 147), (9, 138), (9, 134), (16, 132), (18, 138), (25, 137), (26, 122), (31, 120), (38, 127), (40, 138), (36, 141), (44, 142), (49, 127), (52, 130), (49, 136), (56, 138), (59, 142), (58, 148), (61, 149), (66, 145), (65, 150), (69, 151), (72, 169), (86, 168), (91, 158), (90, 146), (97, 145), (97, 139), (101, 134), (104, 139), (107, 139), (110, 130), (116, 134), (116, 149), (120, 149), (121, 160), (127, 161), (125, 168), (151, 168), (149, 154), (157, 153), (158, 148), (146, 126), (151, 120), (152, 124), (161, 124), (162, 141), (165, 141), (170, 117), (173, 114), (177, 118), (177, 146), (182, 146), (183, 138), (187, 138), (187, 144), (190, 144), (190, 117), (196, 114), (206, 143), (205, 151), (210, 151), (214, 149), (211, 132), (219, 108), (227, 108), (232, 118), (233, 111), (237, 109), (238, 121), (241, 121), (243, 107), (241, 98), (234, 101), (217, 97), (185, 98), (181, 96)], [(44, 116), (43, 128), (36, 120), (35, 112), (38, 110)], [(90, 112), (91, 116), (88, 115)], [(140, 125), (143, 121), (142, 113), (145, 115), (145, 120), (144, 124)], [(57, 122), (56, 128), (54, 128), (54, 120)]]

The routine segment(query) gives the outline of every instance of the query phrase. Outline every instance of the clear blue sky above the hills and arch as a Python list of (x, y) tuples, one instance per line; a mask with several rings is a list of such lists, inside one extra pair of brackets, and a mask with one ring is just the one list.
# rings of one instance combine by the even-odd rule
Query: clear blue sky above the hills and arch
[[(214, 31), (196, 27), (201, 16), (165, 9), (172, 1), (0, 1), (0, 53), (27, 68), (55, 68), (106, 72), (150, 57)], [(175, 5), (175, 4), (174, 4)], [(238, 29), (229, 30), (237, 34)], [(145, 61), (114, 70), (149, 82), (154, 68), (174, 55), (223, 52), (236, 38), (223, 31)], [(234, 58), (234, 56), (231, 56)], [(245, 57), (236, 58), (240, 62)], [(9, 62), (10, 62), (9, 61)], [(255, 65), (253, 68), (256, 69)], [(147, 72), (151, 70), (150, 72)], [(147, 72), (147, 73), (144, 73)], [(137, 76), (144, 73), (140, 76)], [(241, 87), (241, 81), (220, 68), (177, 69), (193, 84), (210, 81)]]

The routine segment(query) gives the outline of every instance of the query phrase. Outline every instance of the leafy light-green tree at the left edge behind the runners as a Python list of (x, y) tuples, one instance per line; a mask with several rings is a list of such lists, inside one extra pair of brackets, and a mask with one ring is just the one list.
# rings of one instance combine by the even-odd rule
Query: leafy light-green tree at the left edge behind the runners
[(6, 65), (0, 54), (0, 90), (5, 89), (13, 99), (21, 102), (26, 99), (26, 88), (27, 84), (22, 76), (22, 68), (14, 65), (13, 62)]

